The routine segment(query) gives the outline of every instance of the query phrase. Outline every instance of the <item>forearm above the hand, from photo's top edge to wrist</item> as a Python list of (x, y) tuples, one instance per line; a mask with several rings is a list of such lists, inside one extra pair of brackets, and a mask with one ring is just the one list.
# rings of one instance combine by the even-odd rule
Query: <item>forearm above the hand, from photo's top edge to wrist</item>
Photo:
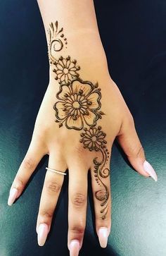
[[(37, 1), (46, 32), (49, 55), (54, 54), (56, 59), (59, 56), (70, 55), (72, 59), (77, 59), (79, 66), (87, 65), (89, 61), (98, 59), (96, 63), (91, 63), (91, 68), (103, 66), (103, 63), (106, 63), (106, 55), (98, 32), (93, 1)], [(63, 28), (63, 31), (58, 36), (54, 35), (54, 38), (51, 38), (53, 28), (50, 24), (53, 23), (54, 30), (56, 30), (56, 20), (58, 21), (58, 30)], [(57, 51), (51, 49), (50, 42), (53, 39), (60, 39), (60, 42), (56, 42)]]

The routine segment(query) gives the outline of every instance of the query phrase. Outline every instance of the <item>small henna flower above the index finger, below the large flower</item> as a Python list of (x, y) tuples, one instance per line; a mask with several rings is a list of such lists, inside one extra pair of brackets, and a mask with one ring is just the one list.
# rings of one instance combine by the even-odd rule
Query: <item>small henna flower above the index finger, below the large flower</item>
[(88, 148), (90, 151), (96, 150), (99, 148), (106, 148), (106, 133), (103, 133), (101, 126), (90, 127), (89, 129), (84, 128), (84, 133), (81, 133), (82, 139), (79, 140), (84, 144), (84, 148)]

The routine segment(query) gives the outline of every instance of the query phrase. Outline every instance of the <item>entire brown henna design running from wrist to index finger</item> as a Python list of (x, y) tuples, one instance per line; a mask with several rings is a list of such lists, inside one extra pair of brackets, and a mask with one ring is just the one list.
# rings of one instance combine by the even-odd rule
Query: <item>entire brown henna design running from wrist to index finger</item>
[[(101, 111), (101, 88), (98, 83), (91, 83), (79, 78), (80, 67), (77, 61), (71, 60), (70, 56), (56, 57), (58, 51), (61, 51), (64, 44), (67, 45), (67, 39), (64, 37), (63, 28), (58, 30), (58, 21), (49, 25), (49, 62), (53, 65), (55, 79), (60, 85), (56, 94), (58, 101), (53, 105), (56, 111), (56, 123), (59, 127), (65, 124), (68, 129), (83, 130), (79, 140), (84, 148), (89, 151), (101, 153), (101, 159), (94, 158), (94, 177), (101, 187), (95, 193), (97, 200), (101, 201), (101, 219), (106, 219), (108, 213), (108, 187), (103, 183), (103, 178), (108, 178), (110, 170), (106, 167), (109, 159), (109, 152), (106, 148), (106, 133), (103, 133), (101, 126), (97, 128), (98, 119), (104, 114)], [(87, 127), (86, 127), (87, 126)]]

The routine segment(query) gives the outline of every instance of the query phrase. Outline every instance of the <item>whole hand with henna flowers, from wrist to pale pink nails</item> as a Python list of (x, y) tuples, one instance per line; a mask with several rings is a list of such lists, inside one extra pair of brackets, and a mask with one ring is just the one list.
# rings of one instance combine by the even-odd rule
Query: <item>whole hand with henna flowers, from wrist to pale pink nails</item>
[[(77, 61), (72, 56), (77, 56)], [(110, 78), (103, 51), (94, 47), (85, 56), (82, 51), (72, 49), (72, 56), (49, 55), (49, 86), (37, 115), (30, 147), (11, 186), (8, 205), (23, 193), (37, 164), (49, 154), (49, 168), (63, 172), (68, 169), (68, 248), (71, 255), (77, 255), (86, 225), (88, 171), (91, 172), (96, 232), (101, 247), (107, 245), (111, 226), (110, 155), (115, 138), (136, 171), (145, 177), (152, 176), (155, 181), (157, 176), (146, 161), (132, 114)], [(39, 245), (44, 245), (50, 231), (64, 178), (46, 171), (37, 217)]]

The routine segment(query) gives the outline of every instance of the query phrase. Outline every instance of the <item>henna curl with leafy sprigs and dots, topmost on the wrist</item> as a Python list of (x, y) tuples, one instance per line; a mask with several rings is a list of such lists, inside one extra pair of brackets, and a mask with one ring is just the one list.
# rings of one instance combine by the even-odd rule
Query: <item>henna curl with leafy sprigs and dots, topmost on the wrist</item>
[(63, 28), (58, 30), (58, 21), (56, 23), (51, 23), (49, 25), (49, 62), (52, 64), (53, 61), (56, 61), (56, 51), (63, 49), (63, 45), (68, 44), (67, 39), (64, 37)]

